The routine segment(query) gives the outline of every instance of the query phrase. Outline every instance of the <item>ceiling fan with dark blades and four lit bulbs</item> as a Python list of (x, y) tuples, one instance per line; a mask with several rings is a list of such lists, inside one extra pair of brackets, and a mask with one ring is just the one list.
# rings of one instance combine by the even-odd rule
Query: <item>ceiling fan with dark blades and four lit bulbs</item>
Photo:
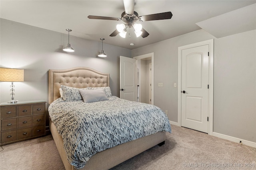
[(131, 27), (134, 27), (134, 32), (137, 37), (148, 37), (149, 33), (142, 28), (141, 24), (135, 23), (136, 21), (167, 20), (172, 18), (172, 12), (139, 16), (138, 13), (134, 11), (134, 0), (124, 0), (124, 10), (125, 11), (121, 14), (121, 18), (105, 16), (88, 16), (88, 18), (98, 20), (123, 21), (124, 23), (116, 25), (116, 30), (109, 35), (110, 37), (114, 37), (119, 34), (123, 38), (126, 36), (127, 29)]

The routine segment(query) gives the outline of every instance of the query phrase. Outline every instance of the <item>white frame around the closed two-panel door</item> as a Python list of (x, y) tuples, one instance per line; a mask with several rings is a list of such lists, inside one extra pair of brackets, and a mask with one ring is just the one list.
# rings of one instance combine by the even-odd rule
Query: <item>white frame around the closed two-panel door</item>
[(198, 47), (202, 45), (209, 45), (209, 91), (208, 91), (208, 134), (213, 134), (213, 64), (214, 64), (214, 39), (184, 45), (178, 47), (178, 123), (176, 125), (181, 126), (181, 87), (182, 87), (182, 50)]

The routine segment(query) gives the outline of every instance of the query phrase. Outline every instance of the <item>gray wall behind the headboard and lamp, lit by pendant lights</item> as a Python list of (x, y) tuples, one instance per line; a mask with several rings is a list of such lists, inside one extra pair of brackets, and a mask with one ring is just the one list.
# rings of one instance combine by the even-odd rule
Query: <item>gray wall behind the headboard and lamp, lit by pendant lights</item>
[[(76, 66), (110, 73), (112, 94), (119, 96), (119, 56), (130, 57), (130, 49), (103, 43), (108, 57), (96, 57), (101, 50), (100, 39), (98, 42), (90, 41), (74, 37), (70, 32), (70, 45), (75, 52), (67, 53), (62, 51), (68, 43), (67, 34), (4, 19), (0, 21), (0, 67), (24, 69), (24, 82), (14, 82), (16, 100), (48, 102), (48, 70)], [(8, 100), (10, 82), (0, 82), (0, 102)]]

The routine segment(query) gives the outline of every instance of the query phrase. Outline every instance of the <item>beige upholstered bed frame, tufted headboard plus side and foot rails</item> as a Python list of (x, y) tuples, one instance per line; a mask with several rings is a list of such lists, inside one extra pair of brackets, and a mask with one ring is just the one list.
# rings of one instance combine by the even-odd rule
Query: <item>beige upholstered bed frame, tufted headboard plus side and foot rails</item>
[[(109, 73), (99, 72), (88, 67), (76, 67), (66, 70), (49, 70), (49, 104), (60, 98), (60, 85), (86, 88), (109, 86)], [(62, 137), (56, 126), (49, 118), (50, 131), (66, 170), (75, 170), (67, 159)], [(166, 139), (165, 132), (142, 137), (134, 141), (117, 145), (94, 154), (82, 170), (108, 170), (130, 158), (144, 152), (155, 145), (163, 145)]]

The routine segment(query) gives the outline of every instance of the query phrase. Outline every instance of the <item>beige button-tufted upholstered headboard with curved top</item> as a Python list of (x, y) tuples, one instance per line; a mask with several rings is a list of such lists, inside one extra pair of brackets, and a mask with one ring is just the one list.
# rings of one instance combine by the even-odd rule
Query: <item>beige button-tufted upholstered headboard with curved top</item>
[(66, 70), (49, 70), (49, 104), (60, 98), (60, 85), (86, 88), (109, 86), (109, 73), (99, 72), (88, 67), (75, 67)]

